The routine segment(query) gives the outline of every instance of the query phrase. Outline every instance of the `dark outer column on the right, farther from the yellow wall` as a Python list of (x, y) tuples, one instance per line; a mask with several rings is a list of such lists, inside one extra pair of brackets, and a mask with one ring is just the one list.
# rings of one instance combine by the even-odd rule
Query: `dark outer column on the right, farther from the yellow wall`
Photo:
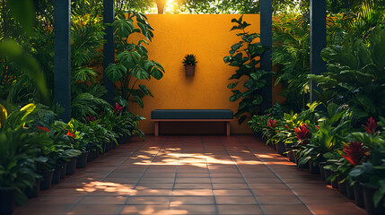
[[(326, 70), (326, 64), (320, 53), (326, 47), (326, 0), (311, 0), (311, 73), (320, 74)], [(310, 82), (311, 102), (317, 100), (314, 90), (321, 89)]]

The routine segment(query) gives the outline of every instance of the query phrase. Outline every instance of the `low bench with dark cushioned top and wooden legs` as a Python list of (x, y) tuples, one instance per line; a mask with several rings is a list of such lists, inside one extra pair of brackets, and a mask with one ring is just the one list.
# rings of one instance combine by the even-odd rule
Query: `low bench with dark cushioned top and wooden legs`
[(155, 136), (159, 136), (161, 122), (224, 122), (226, 135), (230, 136), (230, 109), (155, 109), (151, 111), (151, 121), (155, 123)]

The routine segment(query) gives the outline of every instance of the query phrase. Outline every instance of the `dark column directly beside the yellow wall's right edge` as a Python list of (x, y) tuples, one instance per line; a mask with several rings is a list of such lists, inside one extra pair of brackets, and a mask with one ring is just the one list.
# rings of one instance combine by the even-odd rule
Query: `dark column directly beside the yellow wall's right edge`
[[(262, 45), (269, 47), (261, 56), (260, 68), (265, 71), (272, 70), (271, 53), (272, 53), (272, 21), (273, 21), (273, 5), (272, 0), (260, 1), (260, 42)], [(272, 79), (268, 78), (267, 85), (262, 89), (263, 103), (261, 111), (272, 106)]]

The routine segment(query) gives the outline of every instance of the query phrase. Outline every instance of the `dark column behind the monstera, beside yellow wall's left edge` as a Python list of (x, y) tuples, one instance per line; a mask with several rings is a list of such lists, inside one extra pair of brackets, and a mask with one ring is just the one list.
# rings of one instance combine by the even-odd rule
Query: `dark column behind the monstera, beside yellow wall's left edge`
[[(115, 21), (115, 0), (103, 1), (103, 21), (104, 23), (111, 24)], [(114, 32), (112, 26), (107, 26), (105, 30), (106, 43), (103, 47), (103, 70), (106, 71), (109, 64), (115, 63), (115, 44), (114, 44)], [(111, 104), (115, 97), (115, 85), (109, 80), (106, 73), (103, 73), (104, 86), (108, 90), (105, 99)]]

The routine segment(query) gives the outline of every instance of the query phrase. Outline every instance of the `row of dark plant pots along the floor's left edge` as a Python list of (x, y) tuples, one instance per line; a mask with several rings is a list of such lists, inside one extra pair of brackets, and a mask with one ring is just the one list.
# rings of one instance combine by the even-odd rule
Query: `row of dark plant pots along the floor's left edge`
[[(121, 143), (127, 142), (122, 139)], [(40, 190), (48, 190), (51, 185), (58, 184), (60, 179), (64, 179), (68, 175), (74, 175), (76, 168), (86, 168), (87, 162), (99, 157), (100, 153), (105, 153), (111, 149), (115, 149), (117, 144), (115, 142), (103, 144), (104, 152), (99, 149), (83, 151), (77, 158), (70, 158), (69, 161), (63, 163), (60, 168), (49, 169), (44, 172), (39, 172), (41, 178), (36, 180), (35, 185), (24, 190), (28, 198), (36, 198)], [(0, 215), (12, 214), (14, 206), (14, 198), (16, 189), (13, 187), (0, 187)]]

